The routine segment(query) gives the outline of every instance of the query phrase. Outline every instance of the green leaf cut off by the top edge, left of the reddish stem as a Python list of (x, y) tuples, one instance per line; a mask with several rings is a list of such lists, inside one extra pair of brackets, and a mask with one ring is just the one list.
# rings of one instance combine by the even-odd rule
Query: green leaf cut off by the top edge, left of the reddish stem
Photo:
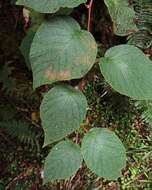
[(41, 13), (55, 13), (60, 8), (74, 8), (87, 0), (17, 0), (17, 5), (30, 7)]

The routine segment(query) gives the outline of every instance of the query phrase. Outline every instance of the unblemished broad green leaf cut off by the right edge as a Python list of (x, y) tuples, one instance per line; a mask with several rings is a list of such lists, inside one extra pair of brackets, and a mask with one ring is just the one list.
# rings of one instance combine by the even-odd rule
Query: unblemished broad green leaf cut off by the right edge
[(152, 99), (152, 62), (131, 45), (110, 48), (100, 60), (106, 81), (119, 93), (137, 100)]

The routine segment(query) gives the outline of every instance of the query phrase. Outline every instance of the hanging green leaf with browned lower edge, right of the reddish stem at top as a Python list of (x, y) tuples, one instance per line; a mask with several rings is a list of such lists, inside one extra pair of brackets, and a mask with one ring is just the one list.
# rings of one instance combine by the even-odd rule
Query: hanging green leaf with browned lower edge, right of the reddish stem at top
[(104, 0), (112, 17), (114, 32), (119, 36), (126, 36), (137, 31), (134, 23), (135, 12), (128, 4), (128, 0)]

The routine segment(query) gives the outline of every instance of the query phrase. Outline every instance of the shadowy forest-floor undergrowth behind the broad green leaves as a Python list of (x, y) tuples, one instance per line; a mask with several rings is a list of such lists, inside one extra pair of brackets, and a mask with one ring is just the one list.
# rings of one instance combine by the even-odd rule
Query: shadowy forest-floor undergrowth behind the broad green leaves
[[(101, 16), (102, 15), (102, 16)], [(86, 28), (86, 9), (80, 6), (72, 16)], [(114, 92), (99, 74), (98, 66), (85, 78), (84, 93), (89, 110), (84, 129), (107, 127), (116, 132), (127, 150), (127, 166), (117, 181), (106, 181), (83, 165), (67, 181), (42, 185), (43, 161), (51, 147), (42, 149), (43, 130), (39, 105), (45, 88), (32, 89), (32, 73), (19, 46), (26, 33), (22, 8), (14, 1), (0, 1), (0, 190), (117, 190), (152, 189), (152, 131), (143, 120), (143, 107)], [(99, 54), (126, 38), (112, 32), (112, 22), (103, 1), (93, 7), (92, 33)], [(74, 85), (75, 83), (72, 82)], [(84, 134), (72, 134), (75, 141)]]

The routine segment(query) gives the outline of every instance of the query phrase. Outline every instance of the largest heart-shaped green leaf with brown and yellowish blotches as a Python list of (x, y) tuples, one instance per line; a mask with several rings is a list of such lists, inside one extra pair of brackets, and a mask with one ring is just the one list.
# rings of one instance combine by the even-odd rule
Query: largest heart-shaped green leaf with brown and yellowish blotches
[(97, 54), (91, 33), (71, 17), (53, 17), (35, 34), (30, 51), (34, 87), (83, 77)]

